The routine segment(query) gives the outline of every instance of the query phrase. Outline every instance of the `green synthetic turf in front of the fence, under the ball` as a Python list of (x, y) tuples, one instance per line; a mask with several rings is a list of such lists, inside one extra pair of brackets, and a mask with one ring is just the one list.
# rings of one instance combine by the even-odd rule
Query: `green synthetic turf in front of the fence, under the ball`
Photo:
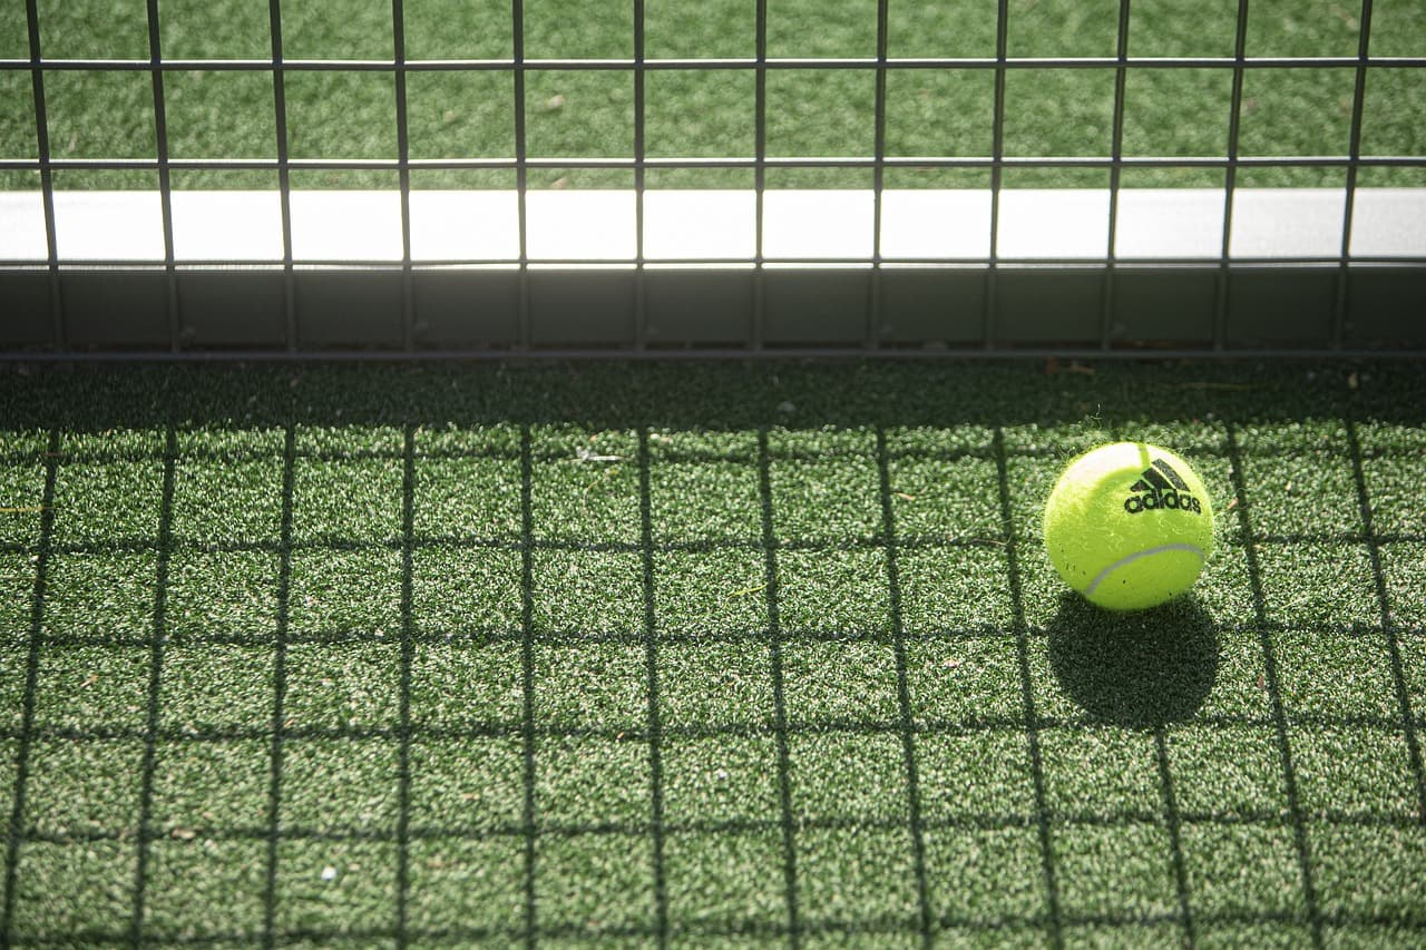
[[(1423, 394), (0, 369), (0, 939), (1419, 943)], [(1038, 506), (1124, 436), (1219, 551), (1114, 616)]]

